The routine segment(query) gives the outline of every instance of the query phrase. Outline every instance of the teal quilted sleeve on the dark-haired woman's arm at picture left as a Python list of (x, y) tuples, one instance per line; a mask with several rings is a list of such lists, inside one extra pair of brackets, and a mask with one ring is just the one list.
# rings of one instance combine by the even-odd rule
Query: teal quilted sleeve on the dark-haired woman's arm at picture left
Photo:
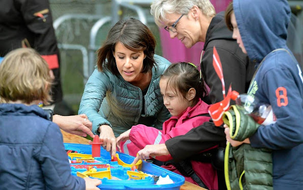
[(95, 68), (85, 85), (78, 111), (78, 114), (85, 113), (89, 117), (89, 120), (93, 123), (92, 131), (95, 134), (99, 135), (98, 128), (100, 125), (106, 124), (112, 127), (111, 123), (98, 113), (102, 101), (106, 96), (106, 91), (112, 91), (112, 89), (113, 85), (109, 74), (99, 72)]

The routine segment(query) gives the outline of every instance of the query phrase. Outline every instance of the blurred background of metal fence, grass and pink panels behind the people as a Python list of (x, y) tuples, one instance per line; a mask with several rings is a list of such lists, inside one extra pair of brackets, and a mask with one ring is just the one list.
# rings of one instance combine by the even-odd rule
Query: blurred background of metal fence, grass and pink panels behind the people
[[(109, 29), (121, 18), (135, 17), (145, 23), (157, 40), (156, 54), (171, 62), (186, 61), (200, 66), (203, 43), (186, 49), (178, 39), (159, 29), (150, 14), (152, 0), (49, 0), (53, 26), (60, 49), (64, 100), (78, 112), (87, 79), (96, 64), (96, 50)], [(216, 12), (224, 11), (231, 0), (211, 0)], [(293, 17), (288, 45), (303, 63), (303, 1), (289, 1)]]

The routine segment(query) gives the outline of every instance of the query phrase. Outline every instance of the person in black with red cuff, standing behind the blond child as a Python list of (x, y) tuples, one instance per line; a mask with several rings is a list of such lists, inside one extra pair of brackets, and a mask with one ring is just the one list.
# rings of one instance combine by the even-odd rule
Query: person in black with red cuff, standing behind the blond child
[(35, 49), (51, 69), (52, 104), (58, 106), (55, 113), (74, 114), (62, 101), (60, 56), (48, 0), (0, 1), (0, 7), (0, 57), (19, 47)]

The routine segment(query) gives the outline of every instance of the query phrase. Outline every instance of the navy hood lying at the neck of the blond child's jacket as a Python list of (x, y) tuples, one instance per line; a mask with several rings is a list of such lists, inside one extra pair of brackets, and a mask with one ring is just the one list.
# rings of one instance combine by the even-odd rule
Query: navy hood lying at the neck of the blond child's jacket
[(47, 120), (47, 113), (37, 105), (0, 104), (0, 115), (32, 115), (40, 116)]

